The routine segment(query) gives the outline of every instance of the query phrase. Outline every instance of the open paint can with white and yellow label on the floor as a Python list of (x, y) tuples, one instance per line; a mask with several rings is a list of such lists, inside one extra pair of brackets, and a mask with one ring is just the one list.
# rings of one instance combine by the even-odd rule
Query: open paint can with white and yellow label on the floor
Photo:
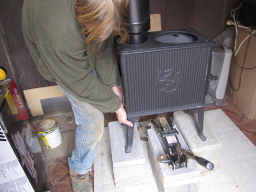
[(62, 144), (62, 134), (55, 120), (45, 119), (38, 126), (40, 127), (38, 132), (45, 147), (55, 148)]

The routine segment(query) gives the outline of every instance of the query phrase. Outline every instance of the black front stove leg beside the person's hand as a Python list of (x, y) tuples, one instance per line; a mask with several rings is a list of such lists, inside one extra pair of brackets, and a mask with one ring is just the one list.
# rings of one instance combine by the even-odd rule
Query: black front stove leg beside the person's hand
[(128, 117), (128, 121), (133, 123), (133, 126), (126, 126), (127, 135), (126, 135), (126, 145), (125, 145), (125, 153), (131, 152), (132, 141), (133, 141), (133, 130), (135, 127), (135, 123), (140, 120), (140, 117)]

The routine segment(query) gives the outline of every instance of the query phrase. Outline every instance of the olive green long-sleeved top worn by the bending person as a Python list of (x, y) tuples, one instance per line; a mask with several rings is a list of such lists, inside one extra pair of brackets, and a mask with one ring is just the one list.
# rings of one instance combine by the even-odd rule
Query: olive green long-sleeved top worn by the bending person
[[(116, 112), (119, 97), (110, 89), (119, 76), (113, 36), (94, 56), (81, 33), (74, 0), (25, 0), (22, 30), (40, 74), (101, 112)], [(98, 77), (93, 71), (97, 72)]]

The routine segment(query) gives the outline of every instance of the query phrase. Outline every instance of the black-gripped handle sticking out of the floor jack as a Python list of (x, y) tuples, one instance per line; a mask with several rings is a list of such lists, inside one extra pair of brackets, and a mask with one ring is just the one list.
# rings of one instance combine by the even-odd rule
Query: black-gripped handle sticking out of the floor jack
[(200, 164), (202, 167), (207, 168), (208, 170), (213, 170), (214, 164), (212, 162), (209, 162), (208, 160), (204, 158), (200, 158), (196, 155), (194, 155), (193, 152), (188, 151), (186, 149), (181, 148), (181, 146), (177, 146), (177, 151), (183, 153), (184, 155), (188, 156), (188, 158), (192, 158), (195, 160), (198, 164)]

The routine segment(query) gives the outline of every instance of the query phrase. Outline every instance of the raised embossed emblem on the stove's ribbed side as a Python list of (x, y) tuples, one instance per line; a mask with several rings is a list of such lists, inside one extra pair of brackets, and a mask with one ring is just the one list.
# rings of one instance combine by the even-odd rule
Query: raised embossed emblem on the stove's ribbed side
[(175, 72), (172, 69), (156, 70), (156, 87), (160, 91), (173, 92), (179, 90), (181, 71)]

